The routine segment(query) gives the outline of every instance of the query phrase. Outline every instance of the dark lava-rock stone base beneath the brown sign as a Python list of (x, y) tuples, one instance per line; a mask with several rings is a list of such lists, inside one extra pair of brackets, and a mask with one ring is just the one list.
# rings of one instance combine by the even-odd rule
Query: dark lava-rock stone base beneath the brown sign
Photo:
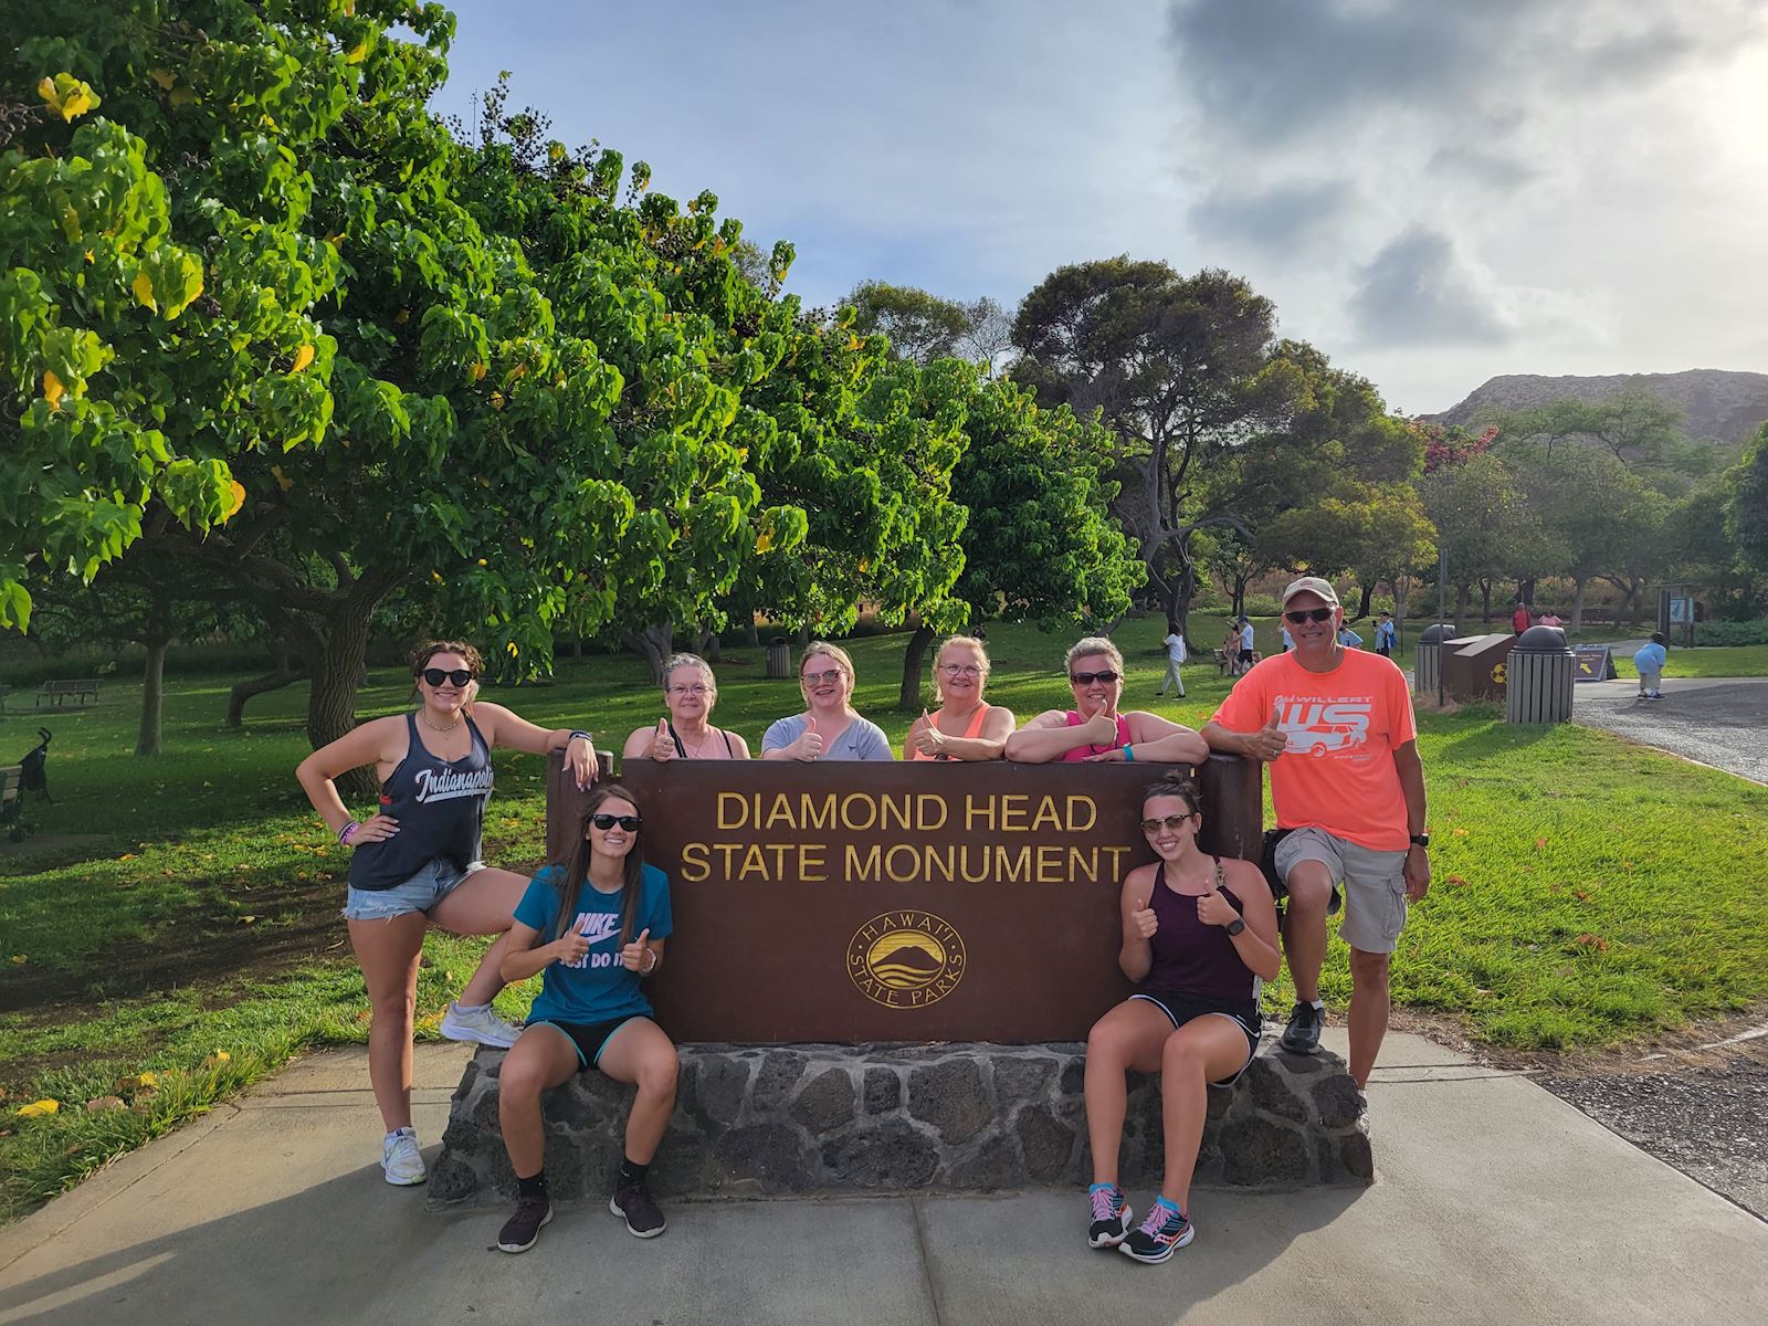
[[(1084, 1045), (682, 1045), (675, 1116), (651, 1169), (659, 1197), (999, 1192), (1080, 1186), (1091, 1151)], [(481, 1048), (449, 1107), (431, 1204), (502, 1204), (514, 1174), (497, 1126), (504, 1052)], [(553, 1197), (599, 1197), (621, 1160), (633, 1089), (580, 1073), (545, 1098)], [(1195, 1183), (1363, 1186), (1363, 1107), (1344, 1061), (1269, 1047), (1211, 1087)], [(1121, 1181), (1156, 1186), (1158, 1077), (1130, 1075)]]

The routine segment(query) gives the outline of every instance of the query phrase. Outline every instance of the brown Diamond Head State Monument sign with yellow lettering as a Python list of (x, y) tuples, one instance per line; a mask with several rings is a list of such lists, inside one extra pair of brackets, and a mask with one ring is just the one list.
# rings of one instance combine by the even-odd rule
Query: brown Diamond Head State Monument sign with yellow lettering
[[(681, 1041), (1061, 1041), (1128, 992), (1117, 888), (1149, 861), (1147, 764), (631, 760), (675, 934)], [(1259, 766), (1197, 771), (1202, 845), (1257, 859)], [(548, 780), (548, 856), (583, 796)]]

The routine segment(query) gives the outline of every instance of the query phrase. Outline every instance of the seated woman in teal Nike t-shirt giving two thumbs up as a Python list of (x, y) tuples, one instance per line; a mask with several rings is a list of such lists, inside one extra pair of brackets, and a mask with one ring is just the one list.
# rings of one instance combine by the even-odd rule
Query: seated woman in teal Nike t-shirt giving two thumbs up
[(638, 983), (663, 965), (674, 925), (668, 877), (645, 865), (640, 831), (631, 794), (598, 789), (571, 859), (541, 870), (516, 905), (504, 979), (541, 972), (541, 992), (497, 1080), (497, 1116), (518, 1186), (516, 1209), (497, 1236), (504, 1252), (527, 1252), (552, 1220), (541, 1093), (592, 1068), (638, 1086), (608, 1209), (636, 1238), (663, 1232), (645, 1170), (675, 1109), (679, 1061)]

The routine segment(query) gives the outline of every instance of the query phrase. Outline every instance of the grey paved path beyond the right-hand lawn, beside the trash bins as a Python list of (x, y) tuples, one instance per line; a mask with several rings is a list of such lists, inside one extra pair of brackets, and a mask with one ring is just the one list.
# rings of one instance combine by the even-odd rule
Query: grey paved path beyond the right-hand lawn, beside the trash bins
[(1572, 720), (1768, 783), (1768, 677), (1669, 675), (1662, 700), (1637, 697), (1632, 679), (1577, 682)]

